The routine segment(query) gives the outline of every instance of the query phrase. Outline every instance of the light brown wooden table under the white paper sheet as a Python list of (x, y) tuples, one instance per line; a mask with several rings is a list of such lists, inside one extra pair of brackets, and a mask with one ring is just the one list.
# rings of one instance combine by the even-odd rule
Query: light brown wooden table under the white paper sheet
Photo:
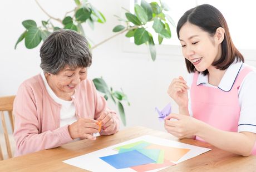
[[(98, 136), (95, 141), (87, 139), (76, 141), (55, 149), (42, 150), (3, 160), (0, 161), (0, 171), (85, 171), (62, 163), (62, 161), (145, 134), (178, 141), (174, 136), (163, 131), (144, 127), (133, 127), (121, 130), (114, 135)], [(243, 157), (231, 154), (215, 148), (208, 143), (193, 139), (183, 139), (180, 141), (191, 145), (211, 148), (212, 150), (161, 171), (256, 171), (256, 156)]]

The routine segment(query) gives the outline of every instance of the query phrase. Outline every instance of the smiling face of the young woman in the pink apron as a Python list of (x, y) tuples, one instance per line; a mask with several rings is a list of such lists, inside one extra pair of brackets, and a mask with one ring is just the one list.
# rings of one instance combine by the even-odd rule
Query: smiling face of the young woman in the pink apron
[(210, 36), (198, 26), (186, 22), (179, 34), (183, 55), (194, 64), (196, 70), (203, 72), (213, 68), (211, 64), (221, 56), (222, 41), (218, 38), (218, 32)]

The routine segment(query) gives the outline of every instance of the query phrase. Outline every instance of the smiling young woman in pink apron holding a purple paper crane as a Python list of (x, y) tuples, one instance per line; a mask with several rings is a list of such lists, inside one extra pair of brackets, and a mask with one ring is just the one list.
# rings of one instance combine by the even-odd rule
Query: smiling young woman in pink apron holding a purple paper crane
[(165, 129), (231, 153), (256, 154), (256, 72), (243, 63), (223, 15), (209, 4), (192, 8), (177, 34), (190, 74), (169, 86), (179, 114), (166, 117)]

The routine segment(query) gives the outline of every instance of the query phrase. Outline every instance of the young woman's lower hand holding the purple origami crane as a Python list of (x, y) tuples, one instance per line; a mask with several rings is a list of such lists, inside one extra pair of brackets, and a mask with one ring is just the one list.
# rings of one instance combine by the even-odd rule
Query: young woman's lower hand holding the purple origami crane
[(165, 117), (165, 129), (179, 139), (194, 138), (198, 132), (198, 123), (199, 120), (188, 115), (170, 114)]

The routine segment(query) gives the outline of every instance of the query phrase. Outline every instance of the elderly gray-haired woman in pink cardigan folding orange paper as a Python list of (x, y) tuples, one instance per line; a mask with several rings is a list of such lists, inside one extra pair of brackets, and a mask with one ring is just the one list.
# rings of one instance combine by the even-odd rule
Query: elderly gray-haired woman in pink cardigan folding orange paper
[(56, 148), (74, 139), (110, 135), (119, 118), (87, 79), (92, 63), (84, 37), (75, 31), (53, 32), (40, 49), (43, 72), (24, 81), (14, 100), (16, 156)]

